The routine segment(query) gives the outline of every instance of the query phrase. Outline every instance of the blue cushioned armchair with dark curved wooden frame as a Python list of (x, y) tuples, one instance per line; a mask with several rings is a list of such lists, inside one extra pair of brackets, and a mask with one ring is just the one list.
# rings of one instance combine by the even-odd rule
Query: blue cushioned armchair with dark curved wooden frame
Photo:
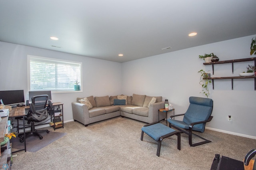
[[(212, 99), (202, 98), (202, 97), (190, 97), (190, 105), (188, 110), (184, 114), (172, 115), (168, 119), (169, 127), (176, 128), (181, 132), (188, 134), (190, 146), (198, 146), (200, 144), (205, 144), (211, 142), (197, 134), (192, 133), (193, 130), (198, 132), (204, 132), (205, 124), (212, 120), (212, 109), (213, 101)], [(172, 118), (177, 116), (184, 116), (183, 121), (174, 120)], [(198, 136), (204, 141), (198, 143), (192, 143), (192, 134)]]

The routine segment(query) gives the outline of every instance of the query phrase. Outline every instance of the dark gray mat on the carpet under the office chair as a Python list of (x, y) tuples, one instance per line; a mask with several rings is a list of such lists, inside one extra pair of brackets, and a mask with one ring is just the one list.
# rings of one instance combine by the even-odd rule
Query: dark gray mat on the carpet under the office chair
[[(51, 144), (55, 140), (58, 140), (62, 136), (66, 135), (66, 133), (62, 133), (62, 132), (49, 132), (49, 133), (42, 132), (40, 134), (43, 136), (42, 139), (39, 139), (39, 137), (37, 136), (30, 136), (26, 138), (26, 150), (28, 152), (36, 152), (44, 148), (48, 144)], [(24, 149), (24, 142), (22, 143), (20, 142), (20, 138), (18, 137), (18, 135), (16, 136), (16, 138), (12, 137), (10, 142), (12, 143), (13, 149), (17, 149), (17, 150)]]

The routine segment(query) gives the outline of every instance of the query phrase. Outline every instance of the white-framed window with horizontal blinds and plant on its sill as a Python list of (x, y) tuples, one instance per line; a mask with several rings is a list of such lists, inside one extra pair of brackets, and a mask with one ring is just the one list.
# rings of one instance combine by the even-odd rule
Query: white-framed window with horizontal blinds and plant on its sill
[(75, 91), (76, 80), (82, 87), (81, 73), (80, 62), (28, 55), (28, 91)]

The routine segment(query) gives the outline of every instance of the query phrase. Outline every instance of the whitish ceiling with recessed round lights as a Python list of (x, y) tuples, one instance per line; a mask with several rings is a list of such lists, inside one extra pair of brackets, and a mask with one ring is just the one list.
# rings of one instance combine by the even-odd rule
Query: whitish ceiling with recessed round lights
[(256, 0), (1, 0), (0, 41), (122, 63), (254, 35), (255, 8)]

